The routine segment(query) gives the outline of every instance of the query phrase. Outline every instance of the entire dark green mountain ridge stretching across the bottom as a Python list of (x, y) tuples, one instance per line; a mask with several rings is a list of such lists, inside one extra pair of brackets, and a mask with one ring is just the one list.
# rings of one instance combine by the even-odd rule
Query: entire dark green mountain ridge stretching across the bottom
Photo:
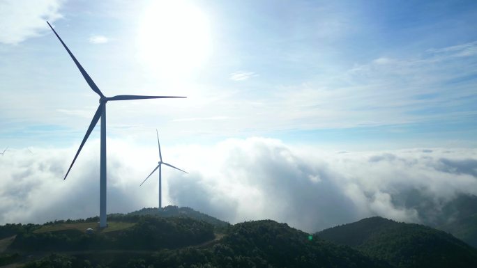
[(230, 225), (190, 207), (144, 208), (108, 220), (105, 229), (94, 227), (97, 217), (0, 226), (0, 266), (477, 267), (477, 249), (452, 235), (380, 217), (315, 235), (272, 220)]

